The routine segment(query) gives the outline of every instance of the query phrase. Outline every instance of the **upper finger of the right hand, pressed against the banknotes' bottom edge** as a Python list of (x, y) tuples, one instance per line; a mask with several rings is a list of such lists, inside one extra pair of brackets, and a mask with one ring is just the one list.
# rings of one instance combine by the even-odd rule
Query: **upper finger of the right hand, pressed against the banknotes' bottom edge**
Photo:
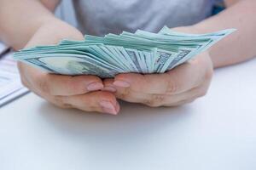
[(199, 65), (197, 60), (189, 61), (172, 71), (163, 74), (142, 75), (135, 73), (119, 74), (113, 85), (119, 88), (131, 88), (143, 94), (180, 94), (195, 88), (201, 82), (212, 77), (207, 66)]

